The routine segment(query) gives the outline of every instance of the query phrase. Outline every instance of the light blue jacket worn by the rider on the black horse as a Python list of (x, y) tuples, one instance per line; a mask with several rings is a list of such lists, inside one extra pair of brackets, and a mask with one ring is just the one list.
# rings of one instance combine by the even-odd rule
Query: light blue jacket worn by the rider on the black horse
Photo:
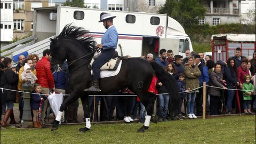
[(116, 49), (118, 41), (118, 33), (115, 26), (107, 29), (105, 34), (101, 38), (102, 49)]

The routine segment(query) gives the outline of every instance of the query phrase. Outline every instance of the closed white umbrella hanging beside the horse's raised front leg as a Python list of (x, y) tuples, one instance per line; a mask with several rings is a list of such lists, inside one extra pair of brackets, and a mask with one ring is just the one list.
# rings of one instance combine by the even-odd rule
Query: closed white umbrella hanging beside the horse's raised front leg
[(48, 100), (49, 100), (49, 103), (51, 105), (54, 115), (57, 116), (59, 113), (59, 110), (60, 110), (60, 106), (63, 102), (63, 94), (62, 93), (56, 94), (55, 92), (53, 92), (48, 97)]

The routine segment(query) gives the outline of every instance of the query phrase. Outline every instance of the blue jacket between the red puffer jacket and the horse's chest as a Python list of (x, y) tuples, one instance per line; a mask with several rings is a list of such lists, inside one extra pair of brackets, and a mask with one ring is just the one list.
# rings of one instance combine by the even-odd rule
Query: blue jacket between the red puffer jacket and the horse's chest
[(68, 81), (68, 68), (66, 61), (62, 65), (61, 69), (61, 71), (55, 71), (53, 73), (54, 85), (56, 89), (65, 90)]

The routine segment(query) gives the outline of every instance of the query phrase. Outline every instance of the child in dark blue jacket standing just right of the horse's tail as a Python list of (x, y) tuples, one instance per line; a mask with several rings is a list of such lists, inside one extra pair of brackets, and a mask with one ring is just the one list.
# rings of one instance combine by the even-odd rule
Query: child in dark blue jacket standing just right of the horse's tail
[(186, 77), (185, 74), (180, 73), (179, 79), (177, 81), (179, 86), (179, 92), (182, 92), (180, 93), (179, 109), (178, 109), (178, 115), (177, 115), (177, 118), (180, 120), (183, 120), (185, 118), (185, 116), (181, 114), (181, 107), (182, 107), (183, 100), (186, 97), (186, 92), (189, 91), (189, 90), (186, 90), (185, 77)]

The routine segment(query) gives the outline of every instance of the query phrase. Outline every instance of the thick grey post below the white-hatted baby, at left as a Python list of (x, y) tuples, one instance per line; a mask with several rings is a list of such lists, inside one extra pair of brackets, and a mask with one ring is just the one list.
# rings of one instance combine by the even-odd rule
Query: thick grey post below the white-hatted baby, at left
[[(30, 83), (23, 83), (22, 89), (25, 92), (30, 92), (32, 88), (32, 85)], [(21, 122), (22, 128), (30, 128), (33, 127), (33, 121), (31, 117), (31, 107), (30, 107), (30, 93), (23, 93), (23, 115), (22, 119), (23, 122)]]

